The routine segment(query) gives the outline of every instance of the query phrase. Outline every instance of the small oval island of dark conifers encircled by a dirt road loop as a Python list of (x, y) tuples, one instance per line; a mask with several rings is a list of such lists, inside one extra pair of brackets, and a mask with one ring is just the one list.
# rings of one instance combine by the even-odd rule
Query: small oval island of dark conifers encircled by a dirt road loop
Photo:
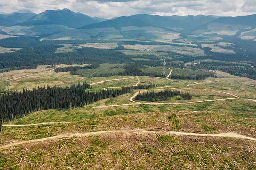
[(190, 100), (192, 99), (192, 95), (188, 92), (180, 92), (178, 90), (171, 91), (171, 90), (164, 90), (159, 92), (149, 91), (146, 93), (138, 94), (135, 97), (135, 100), (142, 100), (148, 102), (158, 102), (158, 101), (165, 101), (165, 100), (172, 100), (171, 98), (179, 96), (175, 98), (175, 100)]

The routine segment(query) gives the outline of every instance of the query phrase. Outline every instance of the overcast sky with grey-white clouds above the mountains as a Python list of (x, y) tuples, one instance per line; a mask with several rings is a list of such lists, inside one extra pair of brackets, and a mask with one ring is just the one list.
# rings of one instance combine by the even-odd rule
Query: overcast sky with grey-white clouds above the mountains
[(113, 18), (134, 14), (240, 16), (256, 13), (256, 0), (0, 0), (0, 12), (68, 8), (89, 16)]

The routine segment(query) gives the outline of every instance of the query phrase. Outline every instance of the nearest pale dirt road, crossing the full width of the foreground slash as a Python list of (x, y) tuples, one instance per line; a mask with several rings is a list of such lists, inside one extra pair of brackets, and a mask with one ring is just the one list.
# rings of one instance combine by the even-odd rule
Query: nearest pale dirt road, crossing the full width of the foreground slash
[(48, 140), (55, 140), (60, 138), (70, 138), (70, 137), (84, 137), (84, 136), (91, 136), (91, 135), (103, 135), (103, 134), (115, 134), (115, 133), (135, 133), (135, 134), (144, 134), (144, 135), (186, 135), (186, 136), (211, 136), (211, 137), (231, 137), (231, 138), (240, 138), (240, 139), (248, 139), (256, 141), (256, 138), (243, 136), (237, 133), (229, 132), (229, 133), (220, 133), (220, 134), (201, 134), (201, 133), (187, 133), (187, 132), (176, 132), (176, 131), (147, 131), (147, 130), (112, 130), (112, 131), (97, 131), (97, 132), (86, 132), (86, 133), (64, 133), (57, 136), (42, 138), (42, 139), (35, 139), (35, 140), (25, 140), (25, 141), (18, 141), (13, 142), (4, 146), (0, 147), (0, 150), (6, 149), (12, 146), (17, 146), (21, 144), (27, 143), (35, 143), (35, 142), (42, 142)]

